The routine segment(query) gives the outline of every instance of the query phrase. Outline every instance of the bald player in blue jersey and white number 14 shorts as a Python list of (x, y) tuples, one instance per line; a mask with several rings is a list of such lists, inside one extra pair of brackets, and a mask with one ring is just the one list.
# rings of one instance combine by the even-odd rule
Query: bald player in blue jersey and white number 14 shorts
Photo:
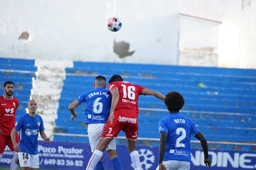
[[(12, 143), (14, 150), (18, 152), (20, 167), (22, 170), (39, 169), (39, 156), (37, 151), (37, 137), (40, 133), (41, 137), (47, 142), (50, 142), (44, 132), (44, 123), (42, 117), (36, 114), (36, 100), (28, 101), (28, 114), (20, 116), (15, 123), (11, 132)], [(20, 142), (16, 143), (15, 135), (20, 130)]]

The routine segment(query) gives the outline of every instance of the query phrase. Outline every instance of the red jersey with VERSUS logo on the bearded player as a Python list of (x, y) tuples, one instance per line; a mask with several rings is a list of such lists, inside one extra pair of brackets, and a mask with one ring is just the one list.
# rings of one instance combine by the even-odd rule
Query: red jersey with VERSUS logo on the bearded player
[(4, 95), (0, 96), (0, 129), (2, 135), (10, 136), (15, 126), (15, 112), (19, 106), (19, 100), (15, 97), (6, 99)]

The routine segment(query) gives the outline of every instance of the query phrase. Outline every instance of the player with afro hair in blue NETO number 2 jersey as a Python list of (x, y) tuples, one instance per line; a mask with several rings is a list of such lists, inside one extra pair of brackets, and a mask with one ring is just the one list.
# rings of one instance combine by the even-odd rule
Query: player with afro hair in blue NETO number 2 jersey
[(194, 122), (179, 113), (185, 101), (179, 92), (165, 95), (164, 104), (169, 115), (159, 122), (159, 165), (156, 170), (189, 170), (191, 134), (200, 140), (204, 151), (204, 163), (209, 168), (208, 146), (204, 135), (196, 128)]

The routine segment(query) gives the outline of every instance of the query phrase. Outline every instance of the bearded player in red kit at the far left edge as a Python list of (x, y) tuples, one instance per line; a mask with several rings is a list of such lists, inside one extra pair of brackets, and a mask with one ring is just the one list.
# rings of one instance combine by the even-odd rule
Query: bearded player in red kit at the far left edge
[[(0, 160), (4, 154), (5, 146), (8, 145), (13, 152), (13, 159), (10, 165), (11, 170), (17, 170), (19, 167), (18, 153), (14, 151), (11, 132), (15, 126), (15, 111), (19, 106), (19, 100), (12, 96), (13, 82), (4, 83), (4, 95), (0, 96)], [(16, 142), (19, 142), (19, 136), (16, 134)]]

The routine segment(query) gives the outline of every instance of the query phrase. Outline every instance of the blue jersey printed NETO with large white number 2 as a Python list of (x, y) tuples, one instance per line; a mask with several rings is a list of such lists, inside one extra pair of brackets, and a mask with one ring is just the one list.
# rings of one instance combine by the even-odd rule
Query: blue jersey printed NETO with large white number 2
[(190, 162), (190, 138), (199, 130), (194, 122), (180, 113), (172, 113), (159, 122), (159, 132), (168, 134), (163, 160), (180, 160)]

